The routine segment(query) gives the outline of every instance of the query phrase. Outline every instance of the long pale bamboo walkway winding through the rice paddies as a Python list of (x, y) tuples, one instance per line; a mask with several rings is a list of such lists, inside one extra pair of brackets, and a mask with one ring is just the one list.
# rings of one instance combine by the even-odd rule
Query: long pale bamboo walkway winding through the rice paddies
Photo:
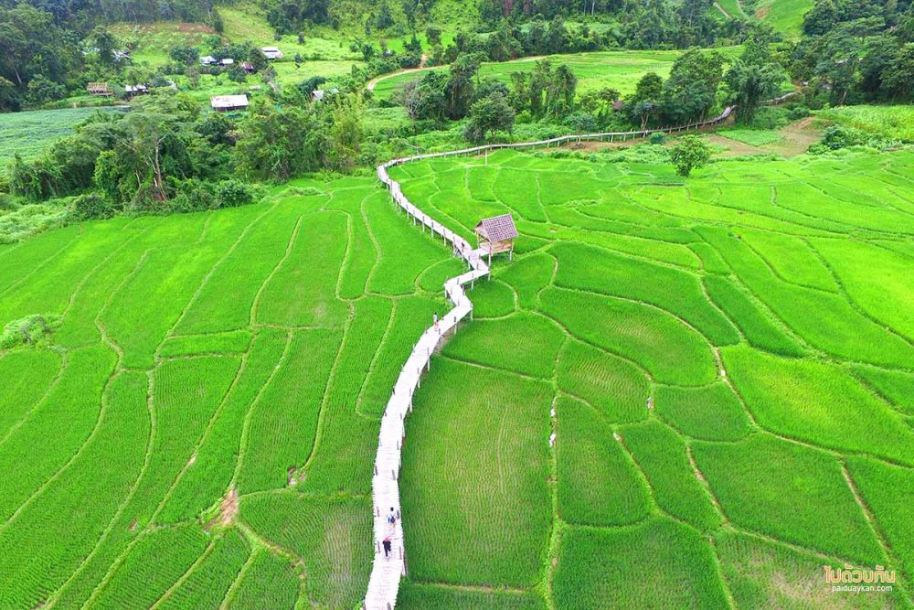
[[(773, 103), (779, 103), (785, 98), (779, 98)], [(469, 271), (453, 277), (444, 284), (444, 292), (453, 303), (453, 308), (439, 321), (438, 327), (430, 326), (422, 334), (412, 354), (400, 370), (397, 383), (388, 401), (387, 409), (381, 420), (381, 430), (377, 438), (377, 455), (375, 456), (375, 475), (372, 478), (372, 505), (374, 510), (375, 532), (375, 559), (372, 564), (371, 577), (368, 581), (368, 591), (365, 596), (366, 610), (393, 610), (397, 603), (400, 577), (407, 573), (407, 553), (403, 540), (403, 530), (400, 518), (399, 498), (399, 470), (402, 466), (400, 448), (406, 438), (406, 418), (412, 411), (412, 396), (420, 387), (422, 372), (428, 370), (431, 364), (431, 355), (441, 344), (441, 338), (452, 329), (456, 332), (457, 325), (466, 316), (473, 319), (473, 303), (463, 290), (466, 284), (490, 274), (488, 265), (484, 262), (481, 251), (474, 251), (470, 243), (448, 229), (441, 222), (432, 219), (428, 214), (410, 203), (403, 195), (399, 182), (388, 175), (388, 168), (407, 164), (413, 161), (430, 159), (442, 156), (476, 155), (482, 152), (498, 150), (500, 148), (526, 148), (533, 146), (551, 146), (569, 142), (582, 142), (599, 140), (612, 142), (616, 139), (646, 137), (650, 134), (672, 134), (692, 129), (711, 127), (726, 121), (734, 112), (735, 106), (728, 106), (720, 115), (707, 121), (688, 123), (675, 127), (661, 129), (647, 129), (633, 132), (606, 132), (601, 134), (563, 135), (538, 142), (520, 142), (516, 144), (485, 144), (473, 148), (432, 153), (429, 155), (416, 155), (394, 159), (377, 166), (377, 178), (390, 191), (390, 196), (403, 209), (413, 224), (421, 225), (424, 231), (429, 228), (433, 236), (440, 236), (444, 243), (450, 243), (454, 255), (460, 256), (469, 265)], [(397, 514), (396, 524), (388, 523), (388, 513), (393, 508)], [(382, 541), (389, 537), (391, 540), (391, 553), (385, 557)]]

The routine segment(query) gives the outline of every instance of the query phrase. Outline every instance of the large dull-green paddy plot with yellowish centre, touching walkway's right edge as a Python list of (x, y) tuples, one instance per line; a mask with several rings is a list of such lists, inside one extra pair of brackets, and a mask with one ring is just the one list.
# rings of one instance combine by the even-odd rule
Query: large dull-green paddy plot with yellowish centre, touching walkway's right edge
[(400, 477), (412, 578), (537, 582), (551, 519), (550, 399), (542, 381), (450, 360), (432, 365), (414, 398)]

